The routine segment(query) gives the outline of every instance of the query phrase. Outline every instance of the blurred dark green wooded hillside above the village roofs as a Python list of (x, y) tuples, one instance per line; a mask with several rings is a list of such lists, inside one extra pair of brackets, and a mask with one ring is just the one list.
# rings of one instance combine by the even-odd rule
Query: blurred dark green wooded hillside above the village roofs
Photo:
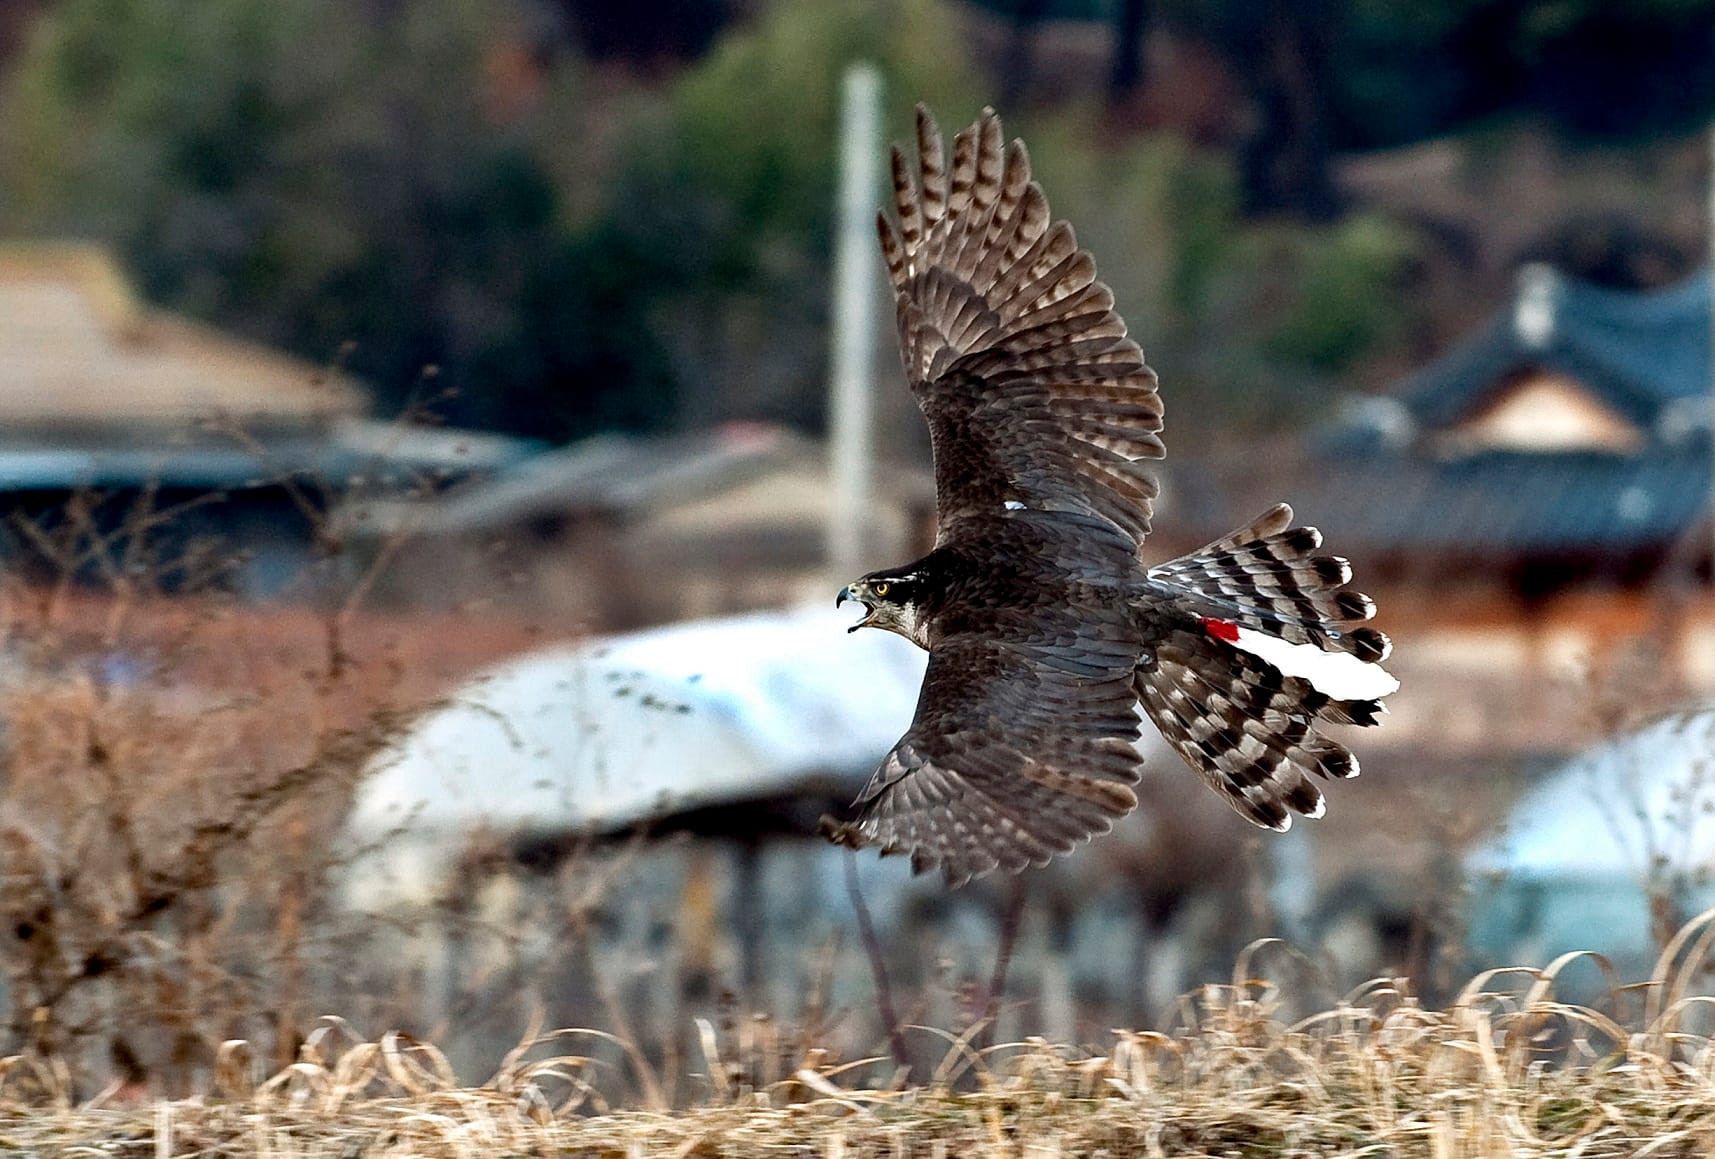
[[(1701, 204), (1672, 137), (1708, 106), (1710, 3), (1065, 5), (1154, 10), (1130, 33), (1043, 3), (679, 0), (653, 27), (619, 7), (34, 5), (0, 58), (0, 238), (108, 242), (151, 300), (340, 360), (382, 413), (436, 367), (449, 420), (552, 441), (821, 425), (854, 60), (885, 74), (890, 139), (921, 99), (948, 129), (993, 103), (1029, 141), (1175, 430), (1303, 423), (1387, 382), (1492, 302), (1519, 247), (1487, 225), (1554, 235), (1533, 202), (1602, 156), (1629, 183), (1573, 209), (1665, 243), (1670, 273), (1701, 254), (1665, 206)], [(1123, 34), (1135, 93), (1103, 82)], [(1648, 67), (1614, 63), (1643, 45)], [(1564, 156), (1485, 187), (1519, 125)], [(1473, 190), (1451, 216), (1343, 180), (1456, 134), (1463, 171), (1406, 190)]]

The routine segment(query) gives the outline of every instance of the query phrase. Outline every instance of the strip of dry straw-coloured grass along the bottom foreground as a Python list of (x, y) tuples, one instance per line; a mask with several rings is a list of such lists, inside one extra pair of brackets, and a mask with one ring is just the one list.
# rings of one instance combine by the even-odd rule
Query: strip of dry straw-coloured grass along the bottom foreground
[[(208, 1090), (141, 1101), (122, 1085), (74, 1102), (53, 1060), (0, 1061), (0, 1147), (53, 1156), (1708, 1156), (1715, 1041), (1688, 979), (1715, 914), (1688, 926), (1626, 1022), (1554, 998), (1547, 970), (1471, 979), (1447, 1010), (1377, 981), (1291, 1024), (1279, 993), (1237, 977), (1188, 996), (1168, 1032), (1101, 1049), (943, 1039), (935, 1073), (809, 1049), (753, 1082), (755, 1036), (703, 1025), (700, 1094), (660, 1099), (640, 1056), (602, 1065), (604, 1036), (559, 1030), (480, 1087), (405, 1036), (322, 1020), (297, 1063), (261, 1078), (221, 1044)], [(1262, 950), (1264, 946), (1257, 946)], [(933, 1034), (918, 1030), (918, 1034)], [(969, 1036), (967, 1036), (969, 1037)], [(614, 1092), (631, 1092), (617, 1096)]]

